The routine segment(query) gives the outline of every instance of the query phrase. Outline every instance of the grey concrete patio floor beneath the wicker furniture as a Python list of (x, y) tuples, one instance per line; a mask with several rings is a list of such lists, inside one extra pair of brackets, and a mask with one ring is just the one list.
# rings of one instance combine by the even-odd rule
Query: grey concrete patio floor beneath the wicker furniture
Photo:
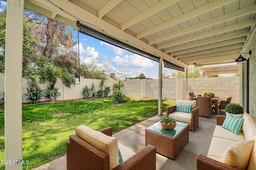
[[(224, 115), (224, 110), (219, 114)], [(165, 116), (166, 113), (151, 117), (115, 133), (113, 137), (132, 151), (138, 152), (145, 147), (145, 129)], [(196, 157), (207, 154), (215, 125), (216, 115), (213, 114), (211, 118), (199, 117), (198, 128), (195, 132), (189, 131), (189, 141), (175, 160), (156, 154), (156, 170), (196, 170)], [(66, 155), (33, 170), (66, 170)]]

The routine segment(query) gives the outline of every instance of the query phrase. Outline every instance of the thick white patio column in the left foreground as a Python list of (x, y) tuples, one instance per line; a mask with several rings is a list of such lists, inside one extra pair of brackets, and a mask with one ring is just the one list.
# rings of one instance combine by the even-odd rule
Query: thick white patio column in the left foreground
[(22, 36), (24, 0), (8, 0), (4, 76), (6, 170), (22, 170)]

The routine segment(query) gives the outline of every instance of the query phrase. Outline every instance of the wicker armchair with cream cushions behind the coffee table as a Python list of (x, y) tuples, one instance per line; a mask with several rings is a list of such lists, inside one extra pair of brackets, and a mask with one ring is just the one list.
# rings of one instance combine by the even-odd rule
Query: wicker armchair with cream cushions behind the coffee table
[(196, 100), (176, 100), (178, 104), (192, 104), (191, 113), (185, 113), (176, 110), (176, 105), (166, 107), (166, 117), (172, 117), (176, 121), (189, 124), (189, 130), (194, 132), (199, 125), (199, 109), (196, 106)]

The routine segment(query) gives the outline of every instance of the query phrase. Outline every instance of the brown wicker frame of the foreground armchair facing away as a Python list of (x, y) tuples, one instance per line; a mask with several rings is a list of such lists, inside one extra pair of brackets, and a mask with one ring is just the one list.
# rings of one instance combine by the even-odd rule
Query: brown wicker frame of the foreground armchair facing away
[[(112, 136), (112, 127), (100, 129)], [(147, 145), (137, 154), (128, 158), (114, 170), (155, 170), (156, 147)], [(67, 143), (67, 170), (110, 170), (109, 154), (90, 145), (76, 135), (71, 135)]]

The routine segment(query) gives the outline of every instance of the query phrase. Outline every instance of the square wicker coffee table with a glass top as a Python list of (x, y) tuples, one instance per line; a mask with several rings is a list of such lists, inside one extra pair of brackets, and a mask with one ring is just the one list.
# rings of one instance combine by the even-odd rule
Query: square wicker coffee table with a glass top
[(178, 122), (172, 130), (164, 130), (160, 121), (145, 129), (145, 145), (153, 145), (156, 152), (172, 160), (178, 156), (189, 138), (188, 123)]

